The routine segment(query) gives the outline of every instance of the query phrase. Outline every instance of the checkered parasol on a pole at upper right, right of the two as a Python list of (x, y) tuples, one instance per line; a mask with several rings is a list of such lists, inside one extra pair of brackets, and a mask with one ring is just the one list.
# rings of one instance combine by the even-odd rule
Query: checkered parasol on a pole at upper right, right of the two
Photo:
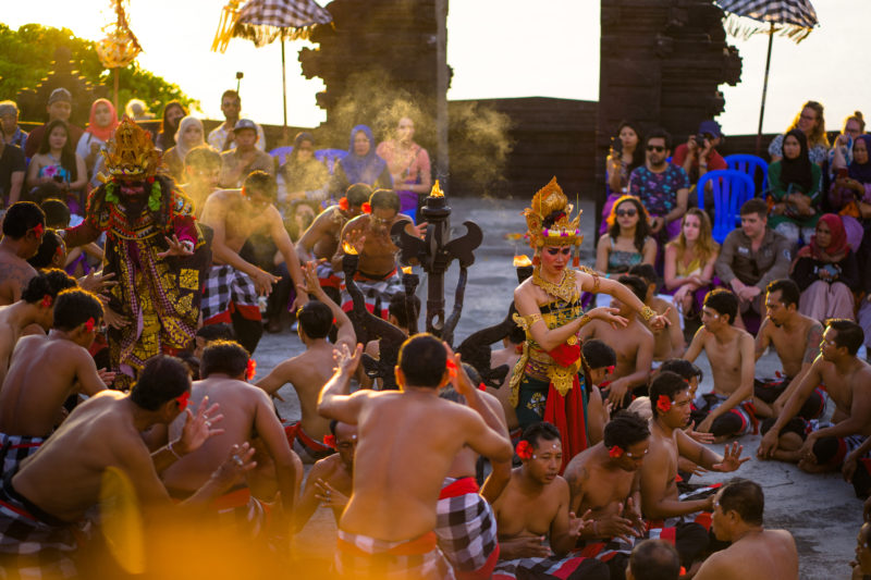
[[(762, 143), (762, 118), (765, 114), (765, 95), (769, 88), (769, 70), (771, 67), (771, 46), (774, 34), (781, 33), (795, 40), (802, 41), (813, 30), (817, 11), (810, 0), (715, 0), (716, 5), (728, 12), (725, 25), (733, 36), (749, 38), (755, 34), (769, 35), (769, 52), (765, 58), (765, 79), (762, 84), (762, 104), (759, 109), (759, 128), (756, 135), (756, 152), (759, 155)], [(750, 18), (748, 22), (744, 18)], [(768, 26), (760, 26), (764, 23)]]

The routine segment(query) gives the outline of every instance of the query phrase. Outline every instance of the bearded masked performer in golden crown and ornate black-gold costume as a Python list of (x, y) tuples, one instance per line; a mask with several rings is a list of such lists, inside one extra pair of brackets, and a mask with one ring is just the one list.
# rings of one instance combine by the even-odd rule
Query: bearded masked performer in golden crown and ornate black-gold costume
[(149, 358), (193, 347), (209, 250), (191, 200), (158, 174), (160, 151), (148, 132), (125, 118), (103, 157), (108, 176), (64, 238), (75, 247), (106, 232), (103, 272), (118, 281), (106, 317), (109, 353), (120, 371), (115, 387), (126, 390)]

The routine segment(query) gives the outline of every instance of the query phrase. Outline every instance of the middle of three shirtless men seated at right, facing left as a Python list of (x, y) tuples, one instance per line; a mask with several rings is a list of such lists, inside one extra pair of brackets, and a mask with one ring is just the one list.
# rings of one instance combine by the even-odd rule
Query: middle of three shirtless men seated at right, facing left
[[(801, 379), (820, 354), (823, 326), (798, 311), (801, 292), (789, 280), (775, 280), (765, 288), (765, 320), (756, 335), (756, 359), (774, 345), (785, 377), (780, 381), (755, 381), (753, 406), (758, 417), (777, 417)], [(802, 405), (799, 416), (815, 419), (825, 410), (822, 388), (814, 388)]]

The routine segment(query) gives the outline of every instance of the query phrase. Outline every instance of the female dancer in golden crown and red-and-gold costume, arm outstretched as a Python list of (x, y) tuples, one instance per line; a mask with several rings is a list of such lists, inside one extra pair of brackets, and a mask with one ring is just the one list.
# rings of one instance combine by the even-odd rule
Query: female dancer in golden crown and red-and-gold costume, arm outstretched
[(585, 314), (581, 291), (615, 296), (654, 328), (667, 324), (664, 314), (657, 316), (623, 284), (601, 279), (588, 268), (569, 268), (572, 247), (576, 250), (572, 262), (577, 268), (584, 239), (578, 230), (580, 212), (571, 219), (572, 209), (554, 177), (524, 211), (536, 268), (514, 291), (519, 312), (515, 320), (525, 329), (526, 342), (512, 375), (510, 399), (520, 428), (543, 420), (560, 429), (563, 469), (587, 447), (589, 386), (578, 331), (593, 318), (626, 325), (614, 308), (594, 308)]

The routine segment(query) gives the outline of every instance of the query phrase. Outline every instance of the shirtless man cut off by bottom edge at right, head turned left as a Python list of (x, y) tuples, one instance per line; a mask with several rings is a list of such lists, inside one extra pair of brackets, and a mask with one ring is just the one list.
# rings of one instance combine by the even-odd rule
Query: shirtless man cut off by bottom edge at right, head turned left
[(765, 498), (758, 483), (733, 480), (716, 492), (712, 528), (729, 546), (714, 552), (696, 580), (796, 580), (798, 550), (786, 530), (762, 525)]

